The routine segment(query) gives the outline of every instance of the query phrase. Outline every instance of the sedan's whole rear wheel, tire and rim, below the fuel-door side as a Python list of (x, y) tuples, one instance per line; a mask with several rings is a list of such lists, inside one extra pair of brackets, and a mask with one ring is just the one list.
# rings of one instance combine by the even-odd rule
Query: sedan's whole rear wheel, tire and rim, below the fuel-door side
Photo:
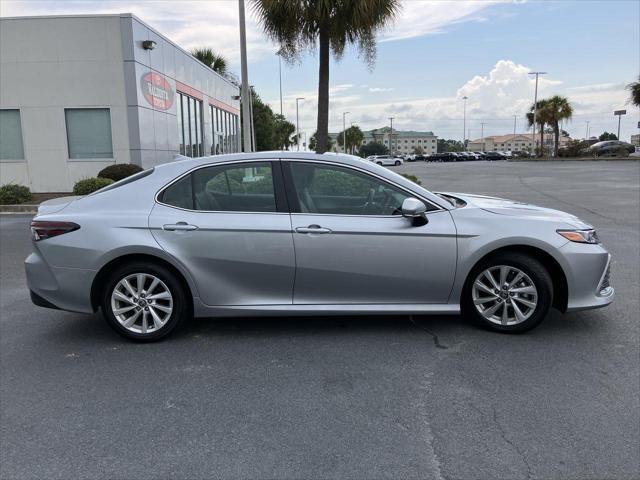
[(103, 315), (116, 332), (132, 340), (159, 340), (190, 314), (184, 287), (161, 265), (123, 265), (111, 273), (105, 286)]

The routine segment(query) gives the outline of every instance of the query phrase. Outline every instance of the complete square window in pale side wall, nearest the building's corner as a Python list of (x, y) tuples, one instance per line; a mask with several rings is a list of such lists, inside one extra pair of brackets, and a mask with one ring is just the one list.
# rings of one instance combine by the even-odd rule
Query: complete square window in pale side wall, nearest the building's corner
[(65, 108), (70, 159), (113, 158), (108, 108)]

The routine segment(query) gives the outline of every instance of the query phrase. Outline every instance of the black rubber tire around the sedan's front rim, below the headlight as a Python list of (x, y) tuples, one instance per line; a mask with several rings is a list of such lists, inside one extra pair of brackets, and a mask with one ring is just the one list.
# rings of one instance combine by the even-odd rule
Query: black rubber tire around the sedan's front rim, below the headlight
[[(532, 280), (538, 292), (537, 305), (529, 318), (515, 325), (499, 325), (484, 318), (476, 309), (472, 297), (472, 285), (478, 275), (484, 270), (497, 265), (515, 267)], [(530, 255), (517, 252), (504, 252), (488, 257), (476, 265), (469, 276), (462, 291), (462, 314), (476, 324), (501, 333), (523, 333), (537, 327), (542, 322), (553, 303), (553, 281), (547, 269)]]

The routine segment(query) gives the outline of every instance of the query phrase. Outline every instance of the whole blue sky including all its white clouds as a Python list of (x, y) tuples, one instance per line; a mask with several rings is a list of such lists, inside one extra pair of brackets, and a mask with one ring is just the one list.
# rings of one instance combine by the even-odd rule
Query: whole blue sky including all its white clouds
[[(184, 48), (210, 45), (239, 73), (237, 3), (227, 0), (8, 1), (0, 15), (132, 12)], [(624, 85), (640, 72), (640, 2), (609, 1), (442, 1), (407, 0), (403, 13), (379, 37), (373, 71), (350, 49), (331, 65), (330, 129), (348, 123), (369, 129), (388, 124), (431, 130), (461, 139), (462, 96), (467, 95), (467, 135), (524, 131), (533, 102), (530, 70), (548, 72), (539, 95), (569, 97), (575, 115), (565, 128), (584, 137), (617, 129), (613, 110), (626, 108), (622, 137), (637, 133), (637, 108), (625, 105)], [(261, 97), (279, 111), (278, 60), (249, 13), (249, 76)], [(315, 130), (317, 57), (283, 64), (284, 113), (301, 130)]]

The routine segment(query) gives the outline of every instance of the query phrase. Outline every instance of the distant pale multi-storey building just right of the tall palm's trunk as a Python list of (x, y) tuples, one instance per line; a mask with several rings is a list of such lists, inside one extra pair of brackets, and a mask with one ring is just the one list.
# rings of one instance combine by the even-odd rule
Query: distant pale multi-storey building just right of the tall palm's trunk
[[(438, 137), (433, 132), (418, 132), (414, 130), (396, 130), (382, 127), (362, 132), (364, 139), (362, 145), (372, 142), (383, 144), (391, 153), (411, 154), (416, 147), (420, 147), (425, 154), (432, 154), (438, 151)], [(334, 143), (334, 150), (342, 152), (342, 147), (338, 145), (337, 133), (330, 133), (329, 137)]]

